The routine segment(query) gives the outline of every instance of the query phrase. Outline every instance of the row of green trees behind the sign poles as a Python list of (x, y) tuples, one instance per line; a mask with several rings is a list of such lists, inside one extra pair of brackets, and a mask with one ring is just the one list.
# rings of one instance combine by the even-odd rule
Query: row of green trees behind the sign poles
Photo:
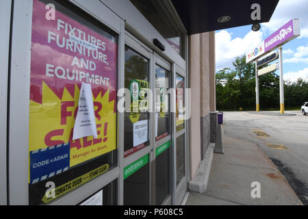
[[(284, 94), (286, 108), (300, 107), (308, 101), (308, 81), (285, 81)], [(279, 75), (259, 76), (259, 99), (261, 110), (279, 110)], [(255, 64), (246, 64), (244, 55), (216, 73), (216, 103), (218, 110), (255, 110)]]

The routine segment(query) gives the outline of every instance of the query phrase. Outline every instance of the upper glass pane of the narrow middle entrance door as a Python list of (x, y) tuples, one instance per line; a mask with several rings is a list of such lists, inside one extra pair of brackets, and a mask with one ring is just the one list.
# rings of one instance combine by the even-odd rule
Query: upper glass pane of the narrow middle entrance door
[(155, 66), (155, 137), (161, 140), (170, 133), (168, 98), (170, 72), (160, 66)]

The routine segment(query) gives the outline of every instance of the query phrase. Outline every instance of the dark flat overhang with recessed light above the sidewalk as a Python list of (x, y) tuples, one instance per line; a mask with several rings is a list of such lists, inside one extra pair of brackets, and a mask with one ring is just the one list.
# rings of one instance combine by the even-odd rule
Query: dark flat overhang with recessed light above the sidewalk
[[(198, 34), (270, 21), (279, 0), (171, 0), (188, 34)], [(255, 7), (259, 4), (259, 20)], [(253, 8), (253, 9), (252, 9)], [(224, 22), (219, 22), (218, 19)], [(229, 20), (229, 21), (228, 21)]]

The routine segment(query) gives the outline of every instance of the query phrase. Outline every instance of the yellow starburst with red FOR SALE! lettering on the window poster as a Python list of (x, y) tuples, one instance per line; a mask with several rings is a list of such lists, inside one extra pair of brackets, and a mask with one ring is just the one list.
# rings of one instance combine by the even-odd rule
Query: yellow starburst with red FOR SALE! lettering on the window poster
[(42, 104), (30, 101), (29, 151), (44, 149), (70, 142), (70, 167), (116, 149), (115, 101), (109, 101), (110, 90), (94, 98), (97, 139), (93, 137), (71, 140), (77, 115), (79, 88), (75, 85), (74, 97), (64, 88), (62, 99), (42, 84)]

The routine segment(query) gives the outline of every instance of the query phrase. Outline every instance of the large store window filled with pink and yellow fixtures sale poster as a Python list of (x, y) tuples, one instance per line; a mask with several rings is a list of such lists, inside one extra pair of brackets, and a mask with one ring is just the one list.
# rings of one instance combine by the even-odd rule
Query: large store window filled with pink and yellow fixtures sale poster
[[(45, 16), (48, 3), (55, 5), (55, 20)], [(116, 166), (118, 37), (74, 5), (53, 0), (33, 1), (31, 36), (29, 204), (40, 205)], [(95, 127), (97, 138), (73, 140), (84, 107), (81, 83), (91, 86), (86, 98), (92, 97), (95, 117), (81, 124)]]

